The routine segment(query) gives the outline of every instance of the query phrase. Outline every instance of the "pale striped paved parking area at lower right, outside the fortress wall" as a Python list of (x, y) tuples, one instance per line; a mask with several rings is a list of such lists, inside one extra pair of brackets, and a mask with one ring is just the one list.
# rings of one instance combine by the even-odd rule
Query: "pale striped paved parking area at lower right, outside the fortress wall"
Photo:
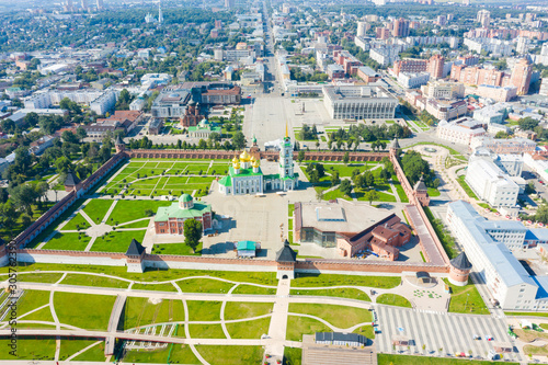
[[(435, 312), (429, 310), (413, 310), (390, 306), (375, 306), (378, 318), (376, 346), (379, 352), (393, 353), (403, 351), (411, 354), (471, 354), (473, 357), (486, 357), (493, 349), (493, 342), (514, 344), (506, 331), (507, 324), (502, 318), (493, 316), (471, 316), (459, 313)], [(410, 340), (409, 349), (392, 347), (392, 338), (404, 335)], [(475, 340), (475, 335), (481, 340)], [(487, 341), (492, 337), (493, 341)], [(424, 346), (424, 347), (423, 347)], [(424, 350), (423, 350), (424, 349)], [(522, 361), (522, 356), (514, 352), (505, 354), (504, 358)]]

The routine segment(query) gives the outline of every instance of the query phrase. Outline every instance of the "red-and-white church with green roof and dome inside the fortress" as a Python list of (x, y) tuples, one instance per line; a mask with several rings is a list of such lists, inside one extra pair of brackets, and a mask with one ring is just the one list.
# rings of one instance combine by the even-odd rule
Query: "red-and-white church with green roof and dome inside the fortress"
[(209, 204), (194, 203), (191, 195), (183, 194), (179, 202), (158, 208), (155, 217), (156, 233), (183, 235), (186, 219), (199, 220), (204, 231), (210, 229), (212, 206)]

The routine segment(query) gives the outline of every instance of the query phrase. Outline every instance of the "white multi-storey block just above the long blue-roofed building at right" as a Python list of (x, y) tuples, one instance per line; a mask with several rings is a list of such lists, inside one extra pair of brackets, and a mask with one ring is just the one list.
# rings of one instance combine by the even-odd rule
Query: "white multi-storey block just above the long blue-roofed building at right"
[(469, 162), (465, 181), (492, 207), (514, 207), (517, 203), (520, 186), (492, 161), (476, 159)]

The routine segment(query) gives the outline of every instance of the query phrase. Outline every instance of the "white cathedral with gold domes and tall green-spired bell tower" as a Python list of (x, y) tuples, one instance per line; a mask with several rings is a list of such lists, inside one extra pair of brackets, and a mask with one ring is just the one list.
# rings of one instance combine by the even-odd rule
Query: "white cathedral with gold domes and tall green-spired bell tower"
[[(253, 142), (256, 142), (254, 138)], [(278, 171), (275, 174), (263, 174), (261, 161), (243, 150), (239, 158), (232, 159), (228, 175), (219, 180), (219, 192), (225, 195), (244, 195), (295, 190), (299, 184), (299, 174), (294, 171), (293, 144), (287, 130), (279, 146)]]

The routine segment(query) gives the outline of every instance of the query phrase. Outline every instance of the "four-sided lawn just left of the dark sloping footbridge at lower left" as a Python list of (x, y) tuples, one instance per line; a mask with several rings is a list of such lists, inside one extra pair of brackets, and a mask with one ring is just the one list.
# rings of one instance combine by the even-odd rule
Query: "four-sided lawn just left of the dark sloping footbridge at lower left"
[(61, 323), (85, 330), (106, 330), (116, 297), (56, 292), (54, 306)]

